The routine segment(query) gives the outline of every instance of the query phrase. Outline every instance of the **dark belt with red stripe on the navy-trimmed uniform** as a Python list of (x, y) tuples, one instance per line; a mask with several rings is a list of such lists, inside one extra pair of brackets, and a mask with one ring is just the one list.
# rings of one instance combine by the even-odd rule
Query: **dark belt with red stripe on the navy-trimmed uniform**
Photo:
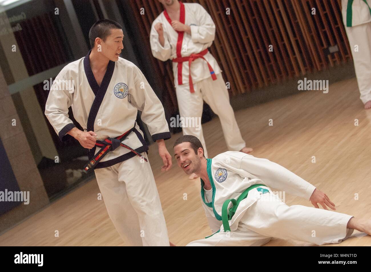
[[(95, 142), (95, 145), (96, 146), (101, 146), (101, 150), (99, 150), (98, 154), (97, 155), (94, 155), (93, 159), (91, 159), (87, 165), (84, 166), (84, 169), (86, 171), (89, 171), (91, 169), (93, 169), (97, 164), (98, 162), (103, 159), (103, 157), (105, 155), (107, 155), (107, 151), (111, 151), (111, 150), (115, 150), (117, 147), (119, 146), (122, 146), (122, 147), (125, 147), (127, 149), (129, 149), (131, 152), (133, 152), (135, 155), (139, 156), (139, 157), (142, 157), (137, 151), (135, 151), (134, 149), (132, 149), (131, 147), (121, 143), (122, 140), (124, 140), (124, 138), (130, 133), (132, 132), (132, 130), (134, 129), (134, 127), (132, 129), (129, 129), (127, 132), (125, 132), (124, 134), (116, 137), (116, 138), (107, 138), (103, 141), (101, 140), (96, 140)], [(143, 157), (143, 159), (147, 162), (147, 159), (145, 157)]]

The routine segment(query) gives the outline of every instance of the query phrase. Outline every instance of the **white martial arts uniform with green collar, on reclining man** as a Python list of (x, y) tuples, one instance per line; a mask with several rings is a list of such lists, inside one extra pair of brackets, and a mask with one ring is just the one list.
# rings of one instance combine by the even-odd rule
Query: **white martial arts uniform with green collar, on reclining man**
[[(188, 246), (260, 246), (273, 237), (323, 245), (339, 243), (353, 232), (347, 229), (351, 215), (282, 202), (270, 188), (309, 200), (315, 187), (277, 163), (227, 151), (207, 159), (207, 173), (212, 200), (207, 202), (204, 198), (202, 179), (201, 199), (214, 234)], [(223, 203), (237, 200), (252, 185), (257, 187), (239, 203), (232, 219), (226, 220), (230, 232), (225, 232)]]

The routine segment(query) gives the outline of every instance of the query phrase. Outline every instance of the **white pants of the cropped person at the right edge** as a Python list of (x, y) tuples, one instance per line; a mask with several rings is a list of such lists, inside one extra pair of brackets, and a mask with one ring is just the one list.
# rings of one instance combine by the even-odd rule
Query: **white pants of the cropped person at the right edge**
[[(345, 31), (354, 60), (360, 98), (365, 104), (371, 100), (371, 22), (352, 27), (345, 26)], [(355, 45), (358, 45), (358, 52), (354, 51)]]

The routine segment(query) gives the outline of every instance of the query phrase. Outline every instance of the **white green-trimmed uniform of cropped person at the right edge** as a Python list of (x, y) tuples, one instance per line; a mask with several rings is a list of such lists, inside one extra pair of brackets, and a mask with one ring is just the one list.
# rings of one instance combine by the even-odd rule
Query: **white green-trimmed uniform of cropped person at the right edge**
[(371, 100), (371, 0), (342, 0), (341, 6), (360, 98), (365, 104)]

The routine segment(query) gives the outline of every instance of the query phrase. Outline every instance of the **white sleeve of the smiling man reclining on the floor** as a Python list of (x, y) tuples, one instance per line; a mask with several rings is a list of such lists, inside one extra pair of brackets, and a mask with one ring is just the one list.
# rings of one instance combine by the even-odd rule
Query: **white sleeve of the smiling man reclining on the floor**
[(309, 200), (315, 186), (290, 172), (283, 166), (267, 159), (246, 155), (241, 159), (240, 169), (261, 179), (265, 185)]

